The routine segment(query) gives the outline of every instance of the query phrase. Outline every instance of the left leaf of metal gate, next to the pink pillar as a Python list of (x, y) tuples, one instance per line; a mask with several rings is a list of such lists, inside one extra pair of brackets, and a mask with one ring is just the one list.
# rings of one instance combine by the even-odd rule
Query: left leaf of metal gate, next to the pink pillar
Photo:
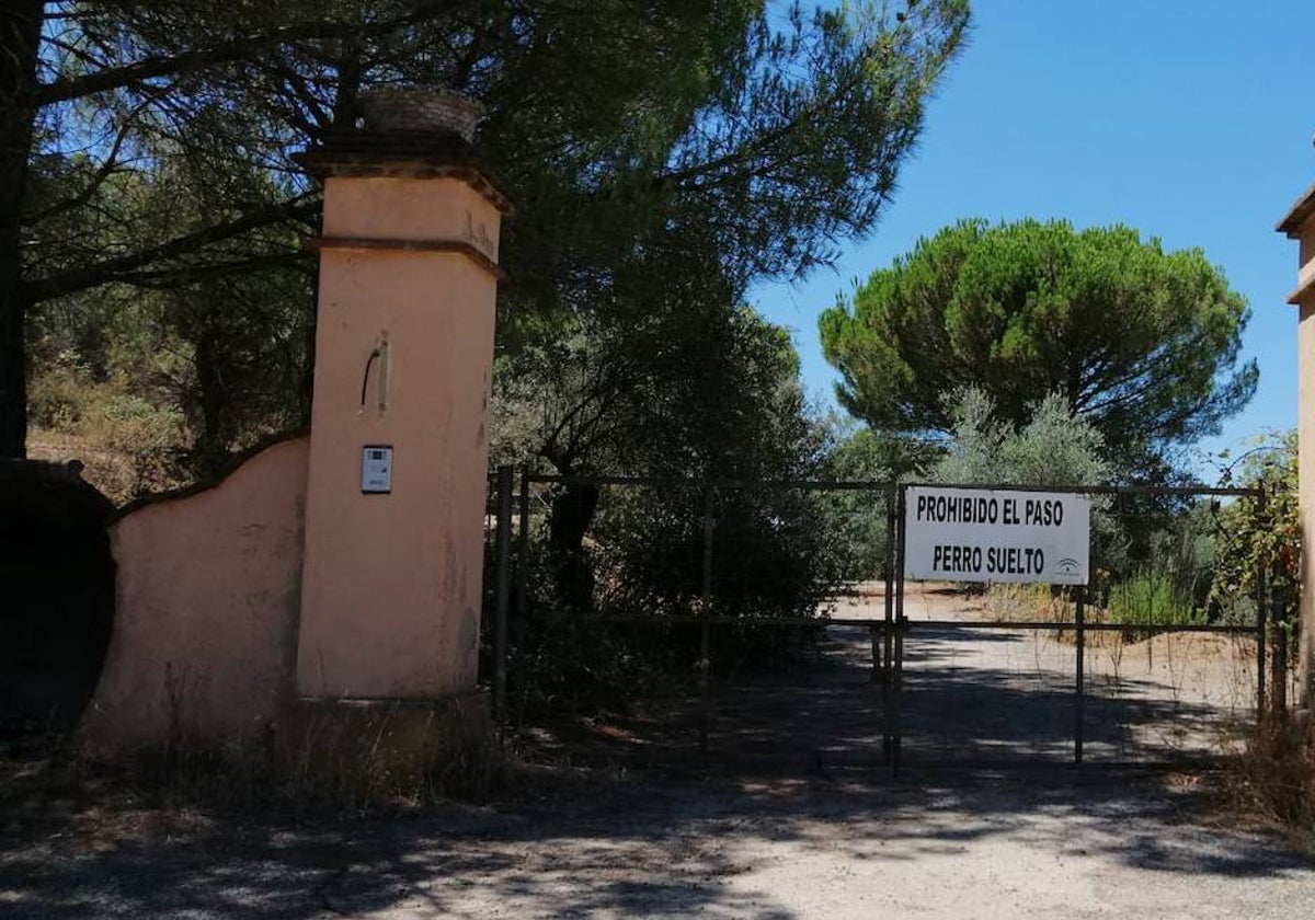
[[(693, 649), (693, 666), (681, 665), (677, 682), (688, 689), (688, 706), (668, 718), (663, 731), (665, 744), (679, 735), (686, 760), (732, 770), (760, 769), (773, 760), (782, 766), (810, 770), (880, 769), (884, 765), (886, 697), (889, 694), (889, 655), (894, 616), (894, 501), (897, 489), (871, 481), (661, 481), (646, 477), (597, 476), (568, 481), (565, 477), (535, 474), (504, 468), (490, 478), (487, 535), (489, 540), (490, 590), (487, 591), (485, 633), (492, 647), (489, 687), (496, 711), (504, 722), (521, 720), (517, 697), (517, 660), (508, 658), (513, 620), (518, 605), (531, 590), (525, 585), (525, 565), (542, 549), (544, 493), (567, 484), (588, 485), (601, 494), (601, 503), (625, 505), (636, 495), (680, 505), (690, 518), (688, 553), (680, 578), (684, 595), (676, 603), (661, 598), (634, 603), (610, 603), (618, 591), (609, 578), (596, 585), (594, 610), (588, 614), (555, 614), (535, 610), (542, 628), (564, 631), (622, 631), (644, 636), (646, 641)], [(764, 497), (772, 497), (767, 501)], [(839, 503), (839, 515), (864, 535), (846, 532), (849, 541), (867, 541), (865, 559), (849, 584), (823, 584), (821, 595), (798, 609), (790, 595), (788, 573), (773, 584), (773, 566), (763, 563), (768, 547), (736, 524), (736, 511), (761, 503), (773, 509), (800, 509)], [(844, 523), (842, 522), (842, 523)], [(760, 520), (761, 523), (761, 520)], [(780, 523), (780, 522), (772, 522)], [(782, 524), (784, 527), (784, 524)], [(852, 528), (851, 528), (852, 530)], [(868, 539), (871, 538), (871, 539)], [(590, 541), (606, 548), (609, 536), (593, 534)], [(755, 556), (757, 565), (748, 565)], [(815, 561), (815, 560), (814, 560)], [(747, 578), (760, 584), (748, 585)], [(852, 584), (861, 581), (864, 584)], [(826, 580), (823, 578), (823, 582)], [(797, 584), (793, 585), (797, 589)], [(775, 593), (775, 597), (773, 597)], [(793, 598), (793, 599), (792, 599)], [(821, 607), (831, 607), (825, 616)], [(801, 668), (785, 672), (755, 672), (746, 668), (756, 641), (775, 636), (778, 645), (797, 637), (809, 655), (840, 666), (830, 672)], [(815, 655), (814, 655), (815, 652)], [(796, 695), (797, 694), (797, 695)], [(800, 701), (823, 710), (818, 719)], [(625, 729), (629, 725), (611, 725)], [(827, 733), (843, 735), (842, 744), (830, 744)], [(801, 737), (807, 736), (807, 737)], [(652, 739), (648, 739), (650, 741)], [(658, 748), (658, 744), (651, 744)], [(671, 747), (676, 747), (675, 743)], [(786, 753), (782, 753), (786, 752)]]

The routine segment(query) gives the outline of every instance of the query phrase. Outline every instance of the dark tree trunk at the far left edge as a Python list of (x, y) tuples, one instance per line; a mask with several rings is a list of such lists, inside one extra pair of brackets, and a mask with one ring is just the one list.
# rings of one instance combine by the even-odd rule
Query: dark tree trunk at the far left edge
[(22, 204), (43, 14), (42, 0), (0, 5), (0, 457), (28, 452)]

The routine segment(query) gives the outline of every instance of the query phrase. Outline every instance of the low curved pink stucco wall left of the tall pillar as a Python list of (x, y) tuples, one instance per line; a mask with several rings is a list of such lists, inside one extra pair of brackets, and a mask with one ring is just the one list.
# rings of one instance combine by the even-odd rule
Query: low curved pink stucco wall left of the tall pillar
[(283, 442), (112, 526), (117, 612), (83, 718), (92, 747), (250, 739), (289, 703), (308, 453), (305, 438)]

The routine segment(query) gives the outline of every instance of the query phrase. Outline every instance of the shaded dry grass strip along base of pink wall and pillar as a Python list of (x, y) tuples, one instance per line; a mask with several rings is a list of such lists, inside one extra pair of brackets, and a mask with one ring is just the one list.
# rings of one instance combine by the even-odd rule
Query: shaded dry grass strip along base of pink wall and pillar
[[(481, 711), (325, 708), (260, 737), (204, 744), (178, 723), (159, 744), (107, 756), (76, 739), (29, 740), (0, 778), (42, 799), (107, 794), (171, 812), (359, 812), (483, 802), (517, 766)], [(108, 793), (107, 793), (108, 790)], [(3, 800), (5, 796), (0, 796)]]

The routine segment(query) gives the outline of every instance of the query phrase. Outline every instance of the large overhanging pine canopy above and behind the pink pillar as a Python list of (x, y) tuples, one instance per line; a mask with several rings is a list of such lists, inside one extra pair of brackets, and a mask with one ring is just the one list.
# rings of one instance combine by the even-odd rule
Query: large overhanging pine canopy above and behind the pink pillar
[[(967, 0), (784, 17), (757, 0), (8, 4), (0, 455), (24, 452), (33, 311), (126, 287), (195, 315), (203, 284), (267, 272), (300, 272), (271, 287), (309, 302), (299, 241), (320, 197), (291, 154), (354, 122), (372, 85), (485, 104), (476, 145), (518, 204), (500, 304), (514, 348), (608, 309), (618, 273), (647, 264), (717, 265), (734, 294), (827, 262), (874, 226), (967, 24)], [(222, 351), (235, 325), (175, 327)]]

